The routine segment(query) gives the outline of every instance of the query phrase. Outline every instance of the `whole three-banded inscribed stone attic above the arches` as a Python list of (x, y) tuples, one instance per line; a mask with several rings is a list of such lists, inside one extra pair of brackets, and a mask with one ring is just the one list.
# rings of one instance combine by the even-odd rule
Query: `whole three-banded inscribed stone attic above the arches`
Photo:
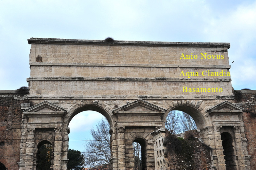
[(233, 95), (229, 43), (50, 38), (28, 43), (32, 96)]

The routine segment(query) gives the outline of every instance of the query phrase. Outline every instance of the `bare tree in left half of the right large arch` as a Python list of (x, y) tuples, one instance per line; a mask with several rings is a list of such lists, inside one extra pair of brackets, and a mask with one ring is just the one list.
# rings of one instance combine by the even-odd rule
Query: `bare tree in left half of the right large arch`
[(177, 111), (174, 110), (168, 113), (165, 128), (167, 128), (172, 134), (180, 133), (180, 114)]

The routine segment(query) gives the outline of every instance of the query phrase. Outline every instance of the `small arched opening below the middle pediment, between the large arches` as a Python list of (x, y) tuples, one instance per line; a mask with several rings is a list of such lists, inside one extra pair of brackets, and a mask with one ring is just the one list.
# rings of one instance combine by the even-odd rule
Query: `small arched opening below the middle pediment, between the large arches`
[(134, 150), (134, 169), (141, 170), (147, 167), (147, 145), (142, 138), (137, 138), (133, 141)]

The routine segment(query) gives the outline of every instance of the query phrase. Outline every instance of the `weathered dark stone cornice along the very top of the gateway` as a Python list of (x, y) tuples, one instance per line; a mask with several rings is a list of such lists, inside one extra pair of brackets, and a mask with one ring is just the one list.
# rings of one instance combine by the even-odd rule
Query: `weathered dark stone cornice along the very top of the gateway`
[(227, 47), (230, 43), (182, 43), (182, 42), (154, 42), (154, 41), (119, 41), (106, 42), (105, 40), (74, 40), (58, 38), (30, 38), (28, 44), (101, 44), (101, 45), (145, 45), (145, 46), (186, 46), (186, 47)]

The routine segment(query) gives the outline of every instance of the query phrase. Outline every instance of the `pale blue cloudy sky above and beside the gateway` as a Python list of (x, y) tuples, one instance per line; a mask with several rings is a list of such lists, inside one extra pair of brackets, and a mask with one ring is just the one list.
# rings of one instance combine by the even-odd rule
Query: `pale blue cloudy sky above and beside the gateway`
[(108, 36), (230, 43), (232, 86), (256, 90), (255, 33), (255, 0), (0, 0), (0, 90), (28, 86), (30, 37)]

